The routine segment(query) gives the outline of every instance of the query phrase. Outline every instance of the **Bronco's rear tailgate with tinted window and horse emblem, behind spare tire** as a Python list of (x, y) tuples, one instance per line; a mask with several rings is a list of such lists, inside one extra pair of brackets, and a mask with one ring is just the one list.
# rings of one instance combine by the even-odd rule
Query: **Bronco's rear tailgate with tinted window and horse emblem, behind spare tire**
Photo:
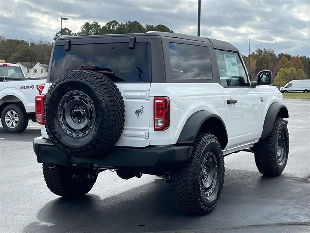
[[(104, 74), (120, 90), (125, 105), (124, 130), (116, 146), (146, 147), (149, 145), (151, 43), (137, 37), (134, 48), (130, 48), (128, 40), (129, 37), (124, 36), (107, 37), (100, 38), (100, 43), (88, 40), (85, 44), (82, 39), (72, 39), (70, 50), (65, 50), (62, 41), (56, 41), (48, 82), (52, 83), (63, 73), (86, 65), (106, 72)], [(46, 92), (47, 89), (43, 94)], [(42, 136), (47, 137), (45, 129)]]

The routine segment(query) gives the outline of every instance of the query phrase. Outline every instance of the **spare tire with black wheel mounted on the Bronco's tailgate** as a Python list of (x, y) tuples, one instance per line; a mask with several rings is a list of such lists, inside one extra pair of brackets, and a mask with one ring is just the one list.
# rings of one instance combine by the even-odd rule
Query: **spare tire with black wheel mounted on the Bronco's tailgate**
[(60, 150), (74, 157), (105, 157), (120, 138), (125, 107), (117, 86), (104, 74), (73, 70), (49, 88), (45, 127)]

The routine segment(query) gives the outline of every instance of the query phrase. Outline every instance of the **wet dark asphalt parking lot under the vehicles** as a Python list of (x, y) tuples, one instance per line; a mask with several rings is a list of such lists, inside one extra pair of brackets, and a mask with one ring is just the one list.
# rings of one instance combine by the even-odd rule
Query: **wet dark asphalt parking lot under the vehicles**
[(309, 232), (310, 101), (285, 100), (290, 152), (279, 177), (262, 176), (251, 153), (225, 157), (225, 183), (215, 210), (186, 215), (157, 176), (122, 180), (100, 173), (84, 198), (66, 200), (45, 185), (31, 122), (21, 134), (0, 126), (0, 232)]

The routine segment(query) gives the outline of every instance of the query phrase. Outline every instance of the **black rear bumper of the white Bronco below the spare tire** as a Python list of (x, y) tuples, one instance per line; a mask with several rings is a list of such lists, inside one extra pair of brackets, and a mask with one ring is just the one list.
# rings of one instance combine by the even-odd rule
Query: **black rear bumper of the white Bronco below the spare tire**
[(103, 159), (75, 158), (66, 155), (43, 137), (34, 138), (33, 149), (39, 163), (94, 166), (148, 173), (171, 172), (186, 163), (192, 153), (192, 146), (151, 146), (143, 149), (116, 147)]

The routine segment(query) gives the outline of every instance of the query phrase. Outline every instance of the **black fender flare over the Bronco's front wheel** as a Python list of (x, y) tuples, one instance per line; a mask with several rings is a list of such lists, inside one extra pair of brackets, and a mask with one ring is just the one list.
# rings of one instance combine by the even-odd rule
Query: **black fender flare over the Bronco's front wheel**
[(263, 132), (260, 139), (266, 138), (269, 133), (271, 133), (273, 124), (275, 123), (275, 119), (277, 116), (280, 116), (282, 118), (289, 118), (289, 112), (284, 104), (274, 102), (270, 105), (267, 111), (266, 118), (263, 124)]

